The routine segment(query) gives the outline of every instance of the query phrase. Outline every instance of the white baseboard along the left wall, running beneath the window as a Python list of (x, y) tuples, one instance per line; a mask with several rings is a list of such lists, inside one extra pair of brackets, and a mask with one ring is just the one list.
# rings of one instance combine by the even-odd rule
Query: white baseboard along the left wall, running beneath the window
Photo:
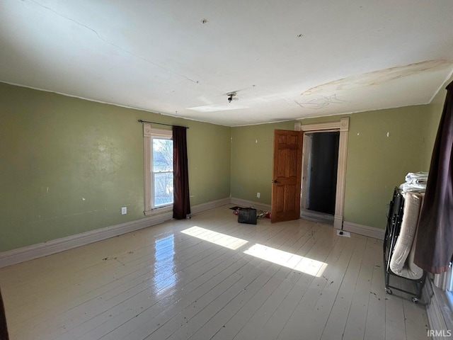
[[(229, 204), (230, 199), (224, 198), (222, 200), (215, 200), (200, 205), (194, 205), (190, 208), (193, 213), (202, 212), (212, 208), (217, 208), (221, 205)], [(110, 237), (127, 234), (139, 229), (159, 225), (173, 218), (173, 212), (168, 211), (159, 215), (152, 215), (134, 220), (130, 222), (120, 223), (119, 225), (112, 225), (110, 227), (103, 227), (100, 229), (91, 230), (89, 232), (82, 232), (60, 239), (53, 239), (52, 241), (33, 244), (31, 246), (24, 246), (18, 249), (3, 251), (0, 253), (0, 268), (12, 266), (16, 263), (38, 259), (43, 256), (49, 256), (59, 253), (61, 251), (76, 248), (77, 246), (84, 246), (93, 242), (109, 239)]]

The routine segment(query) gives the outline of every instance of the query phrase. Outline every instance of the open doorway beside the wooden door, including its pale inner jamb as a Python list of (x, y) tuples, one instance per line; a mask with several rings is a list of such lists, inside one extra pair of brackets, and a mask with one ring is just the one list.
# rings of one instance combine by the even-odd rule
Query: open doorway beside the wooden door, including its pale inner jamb
[(301, 215), (333, 224), (340, 132), (304, 134)]

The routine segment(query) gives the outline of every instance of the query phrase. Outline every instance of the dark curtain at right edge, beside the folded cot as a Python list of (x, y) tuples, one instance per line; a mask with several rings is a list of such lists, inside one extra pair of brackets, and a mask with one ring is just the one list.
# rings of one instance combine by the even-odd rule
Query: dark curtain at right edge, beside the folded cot
[(418, 224), (414, 262), (430, 273), (447, 271), (453, 254), (453, 81), (440, 118)]

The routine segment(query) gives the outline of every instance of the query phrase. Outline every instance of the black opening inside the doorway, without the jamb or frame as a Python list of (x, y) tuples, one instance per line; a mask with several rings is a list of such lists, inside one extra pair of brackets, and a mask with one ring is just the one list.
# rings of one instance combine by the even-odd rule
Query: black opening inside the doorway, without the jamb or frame
[(329, 215), (335, 213), (340, 132), (311, 134), (308, 197), (306, 208)]

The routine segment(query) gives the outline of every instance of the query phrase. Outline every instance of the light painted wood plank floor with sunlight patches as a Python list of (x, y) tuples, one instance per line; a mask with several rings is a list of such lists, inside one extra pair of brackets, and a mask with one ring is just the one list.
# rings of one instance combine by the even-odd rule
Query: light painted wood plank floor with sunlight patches
[(427, 339), (423, 303), (384, 292), (382, 241), (236, 221), (224, 206), (0, 269), (11, 339)]

